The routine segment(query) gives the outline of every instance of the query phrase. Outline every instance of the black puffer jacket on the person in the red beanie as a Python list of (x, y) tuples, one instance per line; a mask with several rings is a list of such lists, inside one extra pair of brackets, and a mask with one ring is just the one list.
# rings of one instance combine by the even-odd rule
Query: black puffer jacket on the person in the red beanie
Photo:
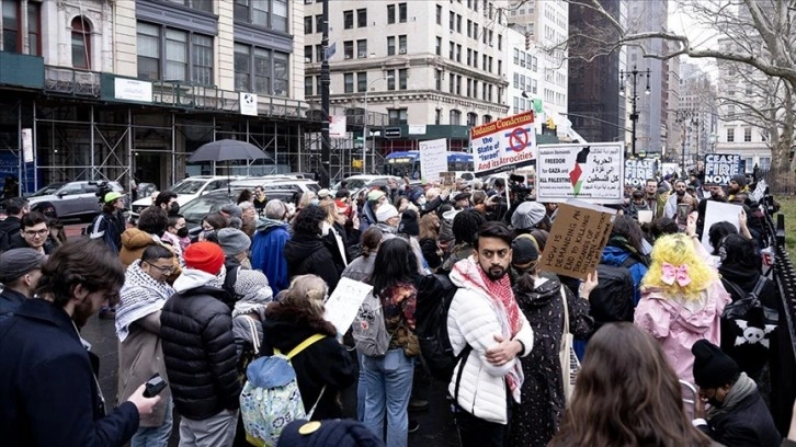
[(202, 421), (239, 406), (232, 317), (227, 293), (196, 287), (174, 294), (160, 314), (160, 336), (174, 406)]

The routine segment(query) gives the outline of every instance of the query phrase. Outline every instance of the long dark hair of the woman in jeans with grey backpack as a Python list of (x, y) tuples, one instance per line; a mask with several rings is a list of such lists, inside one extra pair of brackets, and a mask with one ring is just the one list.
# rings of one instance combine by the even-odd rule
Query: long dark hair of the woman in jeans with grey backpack
[(401, 238), (382, 242), (374, 261), (368, 284), (374, 295), (398, 283), (411, 283), (418, 273), (418, 257), (411, 247)]

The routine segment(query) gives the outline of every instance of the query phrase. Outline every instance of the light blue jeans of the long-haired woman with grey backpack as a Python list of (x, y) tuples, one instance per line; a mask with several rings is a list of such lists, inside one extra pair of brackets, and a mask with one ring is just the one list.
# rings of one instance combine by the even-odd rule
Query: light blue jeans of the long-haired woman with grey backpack
[(384, 357), (362, 356), (365, 377), (365, 426), (379, 438), (384, 436), (387, 413), (387, 447), (406, 447), (409, 442), (409, 397), (412, 393), (414, 362), (402, 348), (390, 349)]

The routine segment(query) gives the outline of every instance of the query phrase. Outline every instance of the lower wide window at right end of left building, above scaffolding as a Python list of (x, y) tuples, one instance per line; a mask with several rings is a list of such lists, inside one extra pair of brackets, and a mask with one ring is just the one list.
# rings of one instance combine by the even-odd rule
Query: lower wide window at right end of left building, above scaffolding
[(235, 44), (235, 90), (287, 96), (288, 61), (285, 53)]

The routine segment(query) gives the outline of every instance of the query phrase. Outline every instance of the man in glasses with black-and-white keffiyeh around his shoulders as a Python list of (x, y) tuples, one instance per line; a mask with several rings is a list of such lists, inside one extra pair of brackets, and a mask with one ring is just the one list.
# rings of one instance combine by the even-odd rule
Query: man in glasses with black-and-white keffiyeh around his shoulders
[[(174, 289), (167, 283), (174, 272), (174, 253), (155, 244), (144, 250), (140, 260), (127, 267), (116, 306), (118, 337), (118, 392), (121, 401), (128, 399), (138, 385), (156, 373), (166, 376), (163, 347), (160, 339), (160, 311)], [(152, 413), (141, 416), (130, 447), (162, 446), (171, 436), (172, 402), (169, 387), (160, 392), (160, 402)]]

